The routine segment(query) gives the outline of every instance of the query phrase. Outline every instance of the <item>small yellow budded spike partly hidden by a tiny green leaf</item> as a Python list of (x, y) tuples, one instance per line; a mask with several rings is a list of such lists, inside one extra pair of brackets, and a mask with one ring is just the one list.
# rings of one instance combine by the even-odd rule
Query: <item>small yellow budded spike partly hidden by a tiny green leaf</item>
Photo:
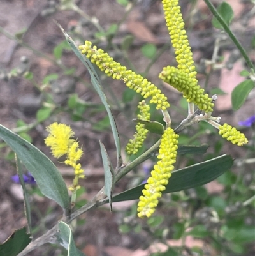
[[(150, 106), (145, 103), (145, 100), (139, 102), (138, 109), (140, 110), (140, 114), (137, 115), (137, 118), (144, 121), (150, 120)], [(137, 154), (138, 149), (142, 147), (143, 141), (146, 139), (146, 135), (148, 130), (144, 128), (144, 124), (138, 123), (136, 124), (136, 133), (134, 135), (134, 139), (129, 140), (129, 143), (126, 146), (126, 152), (128, 154)]]

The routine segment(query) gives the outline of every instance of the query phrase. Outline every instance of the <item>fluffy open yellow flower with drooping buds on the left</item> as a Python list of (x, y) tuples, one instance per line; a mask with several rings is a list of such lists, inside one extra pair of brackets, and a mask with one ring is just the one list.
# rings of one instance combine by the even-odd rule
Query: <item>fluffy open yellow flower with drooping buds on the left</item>
[(78, 190), (78, 179), (84, 178), (84, 170), (82, 165), (77, 163), (82, 157), (83, 151), (79, 148), (77, 140), (73, 139), (75, 133), (66, 124), (53, 123), (46, 128), (50, 134), (45, 139), (45, 144), (52, 150), (55, 158), (60, 158), (66, 154), (64, 163), (70, 165), (75, 170), (75, 178), (69, 190)]

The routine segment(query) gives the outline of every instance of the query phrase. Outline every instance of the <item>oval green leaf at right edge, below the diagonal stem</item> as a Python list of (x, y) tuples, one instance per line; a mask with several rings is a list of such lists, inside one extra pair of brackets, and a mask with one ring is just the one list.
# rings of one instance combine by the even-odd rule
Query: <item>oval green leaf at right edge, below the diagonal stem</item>
[(255, 87), (252, 80), (245, 80), (238, 84), (235, 89), (233, 89), (231, 94), (231, 102), (233, 110), (238, 110), (244, 104), (250, 91)]

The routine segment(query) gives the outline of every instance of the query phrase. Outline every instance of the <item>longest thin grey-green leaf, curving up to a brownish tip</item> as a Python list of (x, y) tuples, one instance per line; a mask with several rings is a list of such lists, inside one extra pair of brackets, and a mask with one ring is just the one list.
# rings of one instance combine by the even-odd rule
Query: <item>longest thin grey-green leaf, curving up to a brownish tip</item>
[(107, 102), (105, 93), (103, 92), (103, 88), (102, 88), (100, 79), (98, 77), (98, 74), (96, 73), (96, 70), (94, 69), (93, 65), (91, 64), (91, 61), (89, 61), (89, 59), (87, 59), (85, 54), (82, 54), (82, 52), (80, 52), (77, 45), (75, 44), (75, 41), (73, 41), (71, 36), (68, 36), (66, 31), (64, 31), (64, 29), (61, 27), (60, 24), (58, 24), (57, 22), (56, 22), (56, 24), (57, 24), (57, 26), (59, 26), (62, 33), (64, 33), (64, 36), (66, 37), (66, 40), (68, 41), (69, 45), (71, 45), (71, 49), (73, 50), (73, 52), (75, 52), (76, 56), (80, 59), (80, 61), (82, 61), (82, 63), (87, 68), (87, 70), (89, 70), (89, 73), (91, 75), (91, 82), (94, 86), (94, 89), (96, 90), (99, 97), (101, 98), (101, 102), (103, 103), (103, 105), (105, 105), (106, 112), (110, 119), (110, 124), (111, 124), (112, 132), (113, 132), (113, 138), (114, 138), (116, 149), (117, 149), (117, 160), (118, 160), (117, 165), (120, 166), (122, 164), (122, 158), (121, 158), (119, 132), (117, 130), (117, 126), (116, 126), (115, 119), (112, 114), (112, 110), (110, 109), (110, 106)]

